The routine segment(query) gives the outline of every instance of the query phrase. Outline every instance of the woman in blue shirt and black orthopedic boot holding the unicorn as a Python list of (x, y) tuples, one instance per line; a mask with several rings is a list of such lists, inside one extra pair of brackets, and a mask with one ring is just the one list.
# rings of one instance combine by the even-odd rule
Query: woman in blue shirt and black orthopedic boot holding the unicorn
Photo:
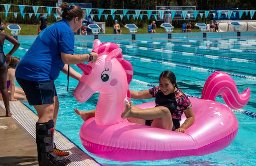
[[(66, 166), (71, 161), (53, 152), (53, 133), (58, 113), (58, 98), (54, 85), (59, 72), (67, 72), (67, 65), (86, 61), (95, 62), (97, 53), (74, 54), (76, 32), (81, 26), (84, 12), (76, 5), (62, 3), (62, 20), (42, 31), (16, 69), (16, 79), (24, 90), (29, 105), (38, 112), (36, 142), (39, 166)], [(65, 65), (66, 64), (66, 65)], [(70, 76), (81, 75), (70, 70)]]

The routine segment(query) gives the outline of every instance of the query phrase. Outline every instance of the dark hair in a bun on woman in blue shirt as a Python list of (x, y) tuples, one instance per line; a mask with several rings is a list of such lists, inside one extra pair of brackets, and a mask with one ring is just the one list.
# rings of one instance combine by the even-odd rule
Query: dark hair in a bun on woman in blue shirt
[(84, 18), (84, 11), (76, 5), (69, 5), (68, 3), (64, 2), (60, 5), (60, 8), (63, 11), (61, 14), (63, 19), (70, 21), (76, 17), (78, 17), (79, 20)]

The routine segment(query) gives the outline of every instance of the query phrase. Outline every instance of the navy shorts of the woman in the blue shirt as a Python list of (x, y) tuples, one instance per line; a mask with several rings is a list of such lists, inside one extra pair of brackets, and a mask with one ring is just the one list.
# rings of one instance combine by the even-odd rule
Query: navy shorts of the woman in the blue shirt
[(17, 77), (16, 80), (25, 92), (29, 105), (52, 104), (53, 97), (57, 96), (53, 80), (34, 82)]

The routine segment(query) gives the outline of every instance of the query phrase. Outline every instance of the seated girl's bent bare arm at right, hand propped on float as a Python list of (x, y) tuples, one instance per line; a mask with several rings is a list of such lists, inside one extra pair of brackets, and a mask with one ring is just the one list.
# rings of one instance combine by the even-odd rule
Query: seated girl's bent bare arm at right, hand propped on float
[(185, 132), (186, 129), (188, 129), (194, 123), (195, 115), (194, 115), (194, 111), (193, 111), (192, 107), (190, 107), (187, 110), (184, 110), (184, 113), (185, 113), (187, 119), (180, 126), (180, 128), (176, 129), (175, 131)]

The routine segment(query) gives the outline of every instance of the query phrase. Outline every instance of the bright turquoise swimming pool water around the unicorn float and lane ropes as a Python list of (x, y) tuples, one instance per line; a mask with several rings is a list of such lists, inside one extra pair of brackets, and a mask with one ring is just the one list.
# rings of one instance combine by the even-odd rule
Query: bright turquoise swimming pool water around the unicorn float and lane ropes
[[(204, 83), (209, 75), (212, 74), (213, 71), (221, 70), (233, 75), (232, 78), (237, 84), (238, 92), (243, 92), (247, 87), (251, 89), (250, 101), (243, 109), (250, 112), (256, 112), (256, 40), (254, 38), (246, 37), (228, 38), (226, 36), (219, 36), (221, 33), (218, 33), (218, 36), (214, 36), (214, 34), (215, 33), (210, 33), (209, 35), (211, 38), (209, 39), (202, 38), (202, 35), (198, 33), (191, 34), (191, 37), (177, 35), (172, 37), (171, 40), (168, 40), (166, 36), (160, 34), (154, 36), (138, 35), (137, 42), (130, 41), (130, 35), (117, 35), (114, 37), (99, 36), (99, 38), (102, 42), (111, 41), (119, 44), (123, 50), (123, 55), (125, 55), (124, 58), (132, 63), (134, 75), (133, 81), (130, 84), (131, 90), (139, 91), (149, 89), (149, 86), (146, 86), (139, 81), (157, 85), (159, 74), (164, 70), (171, 70), (177, 77), (180, 89), (187, 94), (200, 97)], [(252, 32), (251, 34), (247, 33), (244, 36), (255, 37), (255, 34), (256, 33)], [(234, 34), (228, 33), (223, 34), (223, 36), (224, 35), (235, 36)], [(122, 40), (116, 40), (115, 37)], [(31, 46), (34, 39), (35, 37), (19, 37), (21, 43), (20, 47), (24, 49), (19, 49), (13, 56), (22, 57), (25, 54), (26, 49)], [(76, 39), (75, 52), (77, 54), (88, 53), (92, 49), (91, 41), (93, 41), (93, 36), (77, 36)], [(81, 39), (85, 41), (81, 41)], [(159, 42), (161, 44), (159, 44)], [(230, 50), (227, 50), (227, 48)], [(4, 45), (5, 53), (10, 49), (11, 46)], [(167, 63), (162, 64), (160, 62)], [(76, 65), (72, 65), (72, 67), (81, 73)], [(73, 108), (78, 108), (80, 110), (95, 109), (98, 93), (95, 93), (85, 103), (78, 103), (73, 96), (73, 91), (76, 88), (77, 83), (76, 80), (71, 79), (69, 91), (66, 92), (66, 75), (61, 73), (59, 78), (55, 81), (60, 102), (56, 129), (61, 131), (67, 138), (83, 149), (85, 153), (88, 153), (104, 166), (247, 166), (255, 165), (256, 163), (256, 118), (251, 118), (245, 114), (237, 112), (235, 112), (239, 123), (237, 137), (227, 148), (209, 155), (134, 162), (115, 162), (96, 157), (87, 152), (80, 142), (79, 129), (83, 121), (74, 113)], [(220, 97), (216, 100), (224, 103)], [(134, 104), (139, 104), (151, 100), (133, 101)], [(34, 111), (32, 107), (30, 108)]]

